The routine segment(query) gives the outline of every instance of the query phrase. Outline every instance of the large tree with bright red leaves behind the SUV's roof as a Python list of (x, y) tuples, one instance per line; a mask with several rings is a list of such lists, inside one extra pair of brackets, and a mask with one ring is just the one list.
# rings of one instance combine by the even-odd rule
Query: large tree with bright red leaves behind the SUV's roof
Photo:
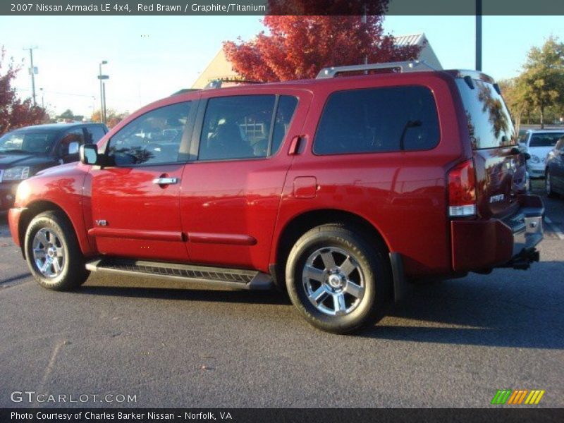
[[(387, 0), (374, 0), (386, 11)], [(269, 33), (244, 42), (224, 42), (233, 71), (260, 82), (315, 78), (321, 68), (417, 59), (421, 47), (399, 47), (384, 35), (383, 15), (265, 16)]]

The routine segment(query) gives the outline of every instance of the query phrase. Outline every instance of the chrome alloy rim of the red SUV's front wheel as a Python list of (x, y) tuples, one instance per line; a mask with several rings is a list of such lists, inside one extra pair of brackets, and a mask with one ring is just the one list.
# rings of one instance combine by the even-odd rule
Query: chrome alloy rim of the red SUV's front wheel
[(33, 260), (39, 273), (56, 278), (65, 266), (65, 249), (61, 239), (51, 228), (42, 228), (33, 238)]

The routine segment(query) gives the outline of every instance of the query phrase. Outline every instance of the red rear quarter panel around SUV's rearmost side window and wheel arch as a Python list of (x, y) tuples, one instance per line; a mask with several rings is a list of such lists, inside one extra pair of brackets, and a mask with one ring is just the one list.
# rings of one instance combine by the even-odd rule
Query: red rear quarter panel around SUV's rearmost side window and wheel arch
[[(295, 157), (283, 190), (275, 239), (292, 219), (315, 209), (339, 209), (357, 214), (381, 233), (390, 252), (404, 259), (407, 276), (448, 274), (450, 235), (446, 173), (472, 157), (460, 97), (448, 75), (413, 73), (368, 78), (337, 78), (314, 88), (305, 124), (307, 145)], [(423, 85), (434, 94), (441, 137), (434, 149), (417, 152), (340, 154), (312, 152), (317, 123), (331, 92), (367, 87)], [(300, 176), (317, 178), (313, 199), (295, 197), (293, 183)], [(275, 262), (276, 250), (271, 252)]]

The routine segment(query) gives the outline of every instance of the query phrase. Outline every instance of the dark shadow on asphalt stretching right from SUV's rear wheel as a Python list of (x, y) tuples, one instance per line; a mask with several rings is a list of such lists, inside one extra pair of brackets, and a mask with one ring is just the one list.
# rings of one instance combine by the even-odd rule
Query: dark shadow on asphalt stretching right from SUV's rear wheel
[[(553, 277), (538, 274), (545, 271), (553, 273)], [(388, 319), (359, 336), (564, 349), (564, 289), (559, 276), (555, 277), (562, 274), (562, 262), (536, 263), (528, 274), (499, 272), (505, 274), (496, 277), (499, 274), (494, 271), (489, 276), (472, 275), (413, 286)]]

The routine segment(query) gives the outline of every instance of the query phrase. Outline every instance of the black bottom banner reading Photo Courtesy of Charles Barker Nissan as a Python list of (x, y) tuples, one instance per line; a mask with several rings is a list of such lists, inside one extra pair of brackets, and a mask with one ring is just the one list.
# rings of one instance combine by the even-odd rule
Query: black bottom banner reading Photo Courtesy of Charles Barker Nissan
[(401, 423), (563, 422), (563, 409), (495, 406), (488, 409), (0, 409), (2, 423)]

